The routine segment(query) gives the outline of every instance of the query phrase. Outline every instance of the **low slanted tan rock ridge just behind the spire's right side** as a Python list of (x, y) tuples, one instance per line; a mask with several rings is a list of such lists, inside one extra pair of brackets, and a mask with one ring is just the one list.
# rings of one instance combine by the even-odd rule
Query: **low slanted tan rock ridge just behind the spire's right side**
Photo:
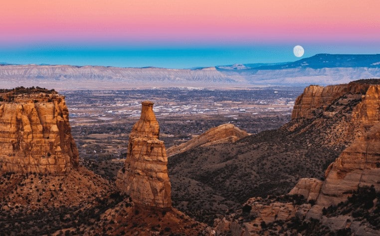
[(209, 146), (220, 143), (234, 143), (246, 136), (248, 136), (247, 132), (239, 129), (233, 124), (223, 124), (207, 130), (203, 134), (192, 138), (186, 143), (169, 148), (167, 150), (167, 154), (168, 157), (171, 157), (198, 146)]

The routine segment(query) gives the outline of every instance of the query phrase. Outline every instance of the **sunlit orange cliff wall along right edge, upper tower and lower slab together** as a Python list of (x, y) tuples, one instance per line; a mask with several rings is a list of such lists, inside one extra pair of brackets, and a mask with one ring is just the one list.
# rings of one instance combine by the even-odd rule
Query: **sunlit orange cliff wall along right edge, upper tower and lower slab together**
[(358, 187), (374, 185), (380, 191), (379, 117), (380, 85), (370, 85), (352, 112), (351, 121), (361, 127), (362, 134), (327, 168), (309, 218), (320, 217), (322, 208), (345, 201)]

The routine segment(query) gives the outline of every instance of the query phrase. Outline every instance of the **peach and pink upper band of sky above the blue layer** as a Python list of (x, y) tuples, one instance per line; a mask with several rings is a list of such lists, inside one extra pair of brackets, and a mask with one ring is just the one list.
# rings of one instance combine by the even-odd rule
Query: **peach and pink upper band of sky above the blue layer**
[(0, 41), (379, 41), (379, 0), (6, 0)]

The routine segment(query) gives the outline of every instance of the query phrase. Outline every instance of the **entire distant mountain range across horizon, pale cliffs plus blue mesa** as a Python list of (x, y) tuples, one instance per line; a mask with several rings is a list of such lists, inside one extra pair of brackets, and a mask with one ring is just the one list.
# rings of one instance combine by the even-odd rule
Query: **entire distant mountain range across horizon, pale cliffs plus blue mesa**
[(131, 87), (304, 86), (380, 77), (380, 54), (317, 54), (294, 62), (253, 63), (191, 69), (120, 68), (0, 63), (0, 87), (56, 89)]

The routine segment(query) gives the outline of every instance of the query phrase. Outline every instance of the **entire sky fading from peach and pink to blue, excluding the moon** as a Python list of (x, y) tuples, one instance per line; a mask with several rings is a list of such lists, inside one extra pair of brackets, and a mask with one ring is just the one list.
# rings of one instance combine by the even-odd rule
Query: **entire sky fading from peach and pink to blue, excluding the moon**
[(3, 0), (0, 62), (191, 68), (380, 53), (379, 0)]

